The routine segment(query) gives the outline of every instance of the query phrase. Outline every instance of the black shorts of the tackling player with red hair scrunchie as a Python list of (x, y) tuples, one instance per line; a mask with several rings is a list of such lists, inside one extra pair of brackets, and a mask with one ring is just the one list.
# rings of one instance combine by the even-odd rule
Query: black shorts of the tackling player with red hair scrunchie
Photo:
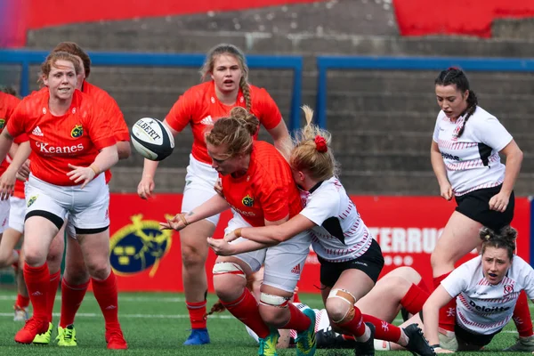
[(365, 254), (350, 261), (335, 263), (328, 262), (317, 256), (320, 262), (320, 282), (323, 286), (334, 287), (337, 279), (345, 270), (360, 270), (376, 283), (378, 275), (384, 267), (384, 256), (375, 239)]

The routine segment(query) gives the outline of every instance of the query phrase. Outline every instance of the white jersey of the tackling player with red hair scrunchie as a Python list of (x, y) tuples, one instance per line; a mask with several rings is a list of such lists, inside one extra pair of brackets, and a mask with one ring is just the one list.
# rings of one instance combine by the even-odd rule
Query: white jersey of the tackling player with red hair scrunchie
[(317, 255), (330, 262), (344, 262), (363, 255), (373, 237), (360, 218), (351, 198), (336, 177), (320, 182), (312, 190), (301, 191), (303, 216), (313, 227), (312, 247)]

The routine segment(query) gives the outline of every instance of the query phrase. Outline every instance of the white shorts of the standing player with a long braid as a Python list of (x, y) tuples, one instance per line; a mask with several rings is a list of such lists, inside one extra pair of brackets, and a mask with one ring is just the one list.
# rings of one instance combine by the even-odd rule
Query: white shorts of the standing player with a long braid
[[(214, 186), (218, 178), (219, 174), (212, 166), (200, 162), (190, 155), (190, 165), (187, 166), (185, 188), (183, 189), (182, 213), (189, 213), (195, 207), (213, 198), (217, 194)], [(221, 214), (216, 214), (206, 220), (217, 226), (220, 216)]]

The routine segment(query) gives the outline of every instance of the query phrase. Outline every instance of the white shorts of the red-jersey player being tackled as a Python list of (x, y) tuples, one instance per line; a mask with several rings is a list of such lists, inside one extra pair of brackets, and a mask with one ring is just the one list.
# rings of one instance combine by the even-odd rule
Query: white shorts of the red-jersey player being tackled
[[(245, 227), (251, 227), (251, 225), (241, 215), (234, 214), (231, 221), (228, 222), (228, 227), (224, 230), (224, 233), (227, 234), (238, 228)], [(231, 243), (239, 244), (239, 242), (245, 240), (244, 238), (239, 238)], [(310, 253), (311, 244), (311, 234), (308, 231), (304, 231), (277, 246), (234, 255), (234, 257), (247, 263), (252, 271), (259, 271), (264, 264), (263, 284), (287, 292), (294, 292), (296, 282), (300, 279), (303, 271), (306, 256)]]

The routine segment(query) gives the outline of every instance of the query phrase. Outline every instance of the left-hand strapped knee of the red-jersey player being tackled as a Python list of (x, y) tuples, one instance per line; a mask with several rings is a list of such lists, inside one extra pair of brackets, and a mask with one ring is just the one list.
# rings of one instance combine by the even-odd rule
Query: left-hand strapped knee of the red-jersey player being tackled
[(235, 300), (240, 287), (247, 284), (247, 275), (238, 263), (219, 262), (214, 264), (214, 289), (223, 301)]

